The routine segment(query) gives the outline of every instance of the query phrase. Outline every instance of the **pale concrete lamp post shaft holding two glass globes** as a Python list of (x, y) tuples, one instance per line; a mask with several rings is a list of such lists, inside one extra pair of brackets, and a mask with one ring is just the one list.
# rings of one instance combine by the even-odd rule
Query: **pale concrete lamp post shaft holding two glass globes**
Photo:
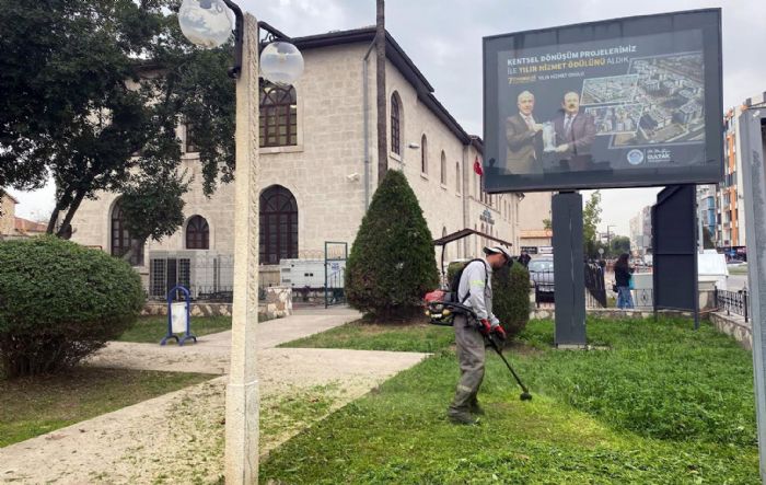
[(234, 299), (227, 388), (227, 484), (258, 483), (258, 22), (244, 15), (242, 72), (236, 81)]

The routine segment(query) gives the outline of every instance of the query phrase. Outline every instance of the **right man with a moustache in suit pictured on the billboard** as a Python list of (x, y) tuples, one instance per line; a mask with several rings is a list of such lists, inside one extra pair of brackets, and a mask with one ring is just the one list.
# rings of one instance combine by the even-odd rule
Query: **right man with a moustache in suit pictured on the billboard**
[(554, 118), (556, 153), (561, 166), (572, 171), (588, 170), (593, 164), (591, 146), (595, 139), (593, 116), (580, 113), (580, 94), (570, 91), (564, 95), (561, 113)]

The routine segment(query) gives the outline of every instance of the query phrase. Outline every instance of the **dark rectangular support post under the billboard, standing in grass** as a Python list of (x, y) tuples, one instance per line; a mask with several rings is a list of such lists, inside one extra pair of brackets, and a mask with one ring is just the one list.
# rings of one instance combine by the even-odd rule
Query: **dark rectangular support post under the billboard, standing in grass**
[(555, 344), (583, 348), (585, 275), (582, 249), (582, 194), (561, 192), (552, 204), (554, 228)]

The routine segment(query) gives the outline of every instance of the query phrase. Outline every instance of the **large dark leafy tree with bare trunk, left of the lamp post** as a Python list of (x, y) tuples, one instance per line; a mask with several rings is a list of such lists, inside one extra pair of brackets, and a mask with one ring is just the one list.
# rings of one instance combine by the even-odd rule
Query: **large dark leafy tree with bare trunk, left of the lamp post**
[(0, 0), (0, 186), (38, 188), (53, 176), (49, 233), (67, 234), (100, 190), (174, 172), (179, 123), (195, 127), (206, 194), (232, 178), (230, 49), (190, 46), (177, 4)]

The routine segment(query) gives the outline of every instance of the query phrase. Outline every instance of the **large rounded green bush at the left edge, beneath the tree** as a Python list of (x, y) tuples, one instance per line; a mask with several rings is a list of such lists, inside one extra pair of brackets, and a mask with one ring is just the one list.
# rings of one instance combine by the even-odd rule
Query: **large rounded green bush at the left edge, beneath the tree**
[(0, 360), (8, 378), (70, 368), (118, 337), (144, 303), (121, 259), (54, 236), (0, 242)]

